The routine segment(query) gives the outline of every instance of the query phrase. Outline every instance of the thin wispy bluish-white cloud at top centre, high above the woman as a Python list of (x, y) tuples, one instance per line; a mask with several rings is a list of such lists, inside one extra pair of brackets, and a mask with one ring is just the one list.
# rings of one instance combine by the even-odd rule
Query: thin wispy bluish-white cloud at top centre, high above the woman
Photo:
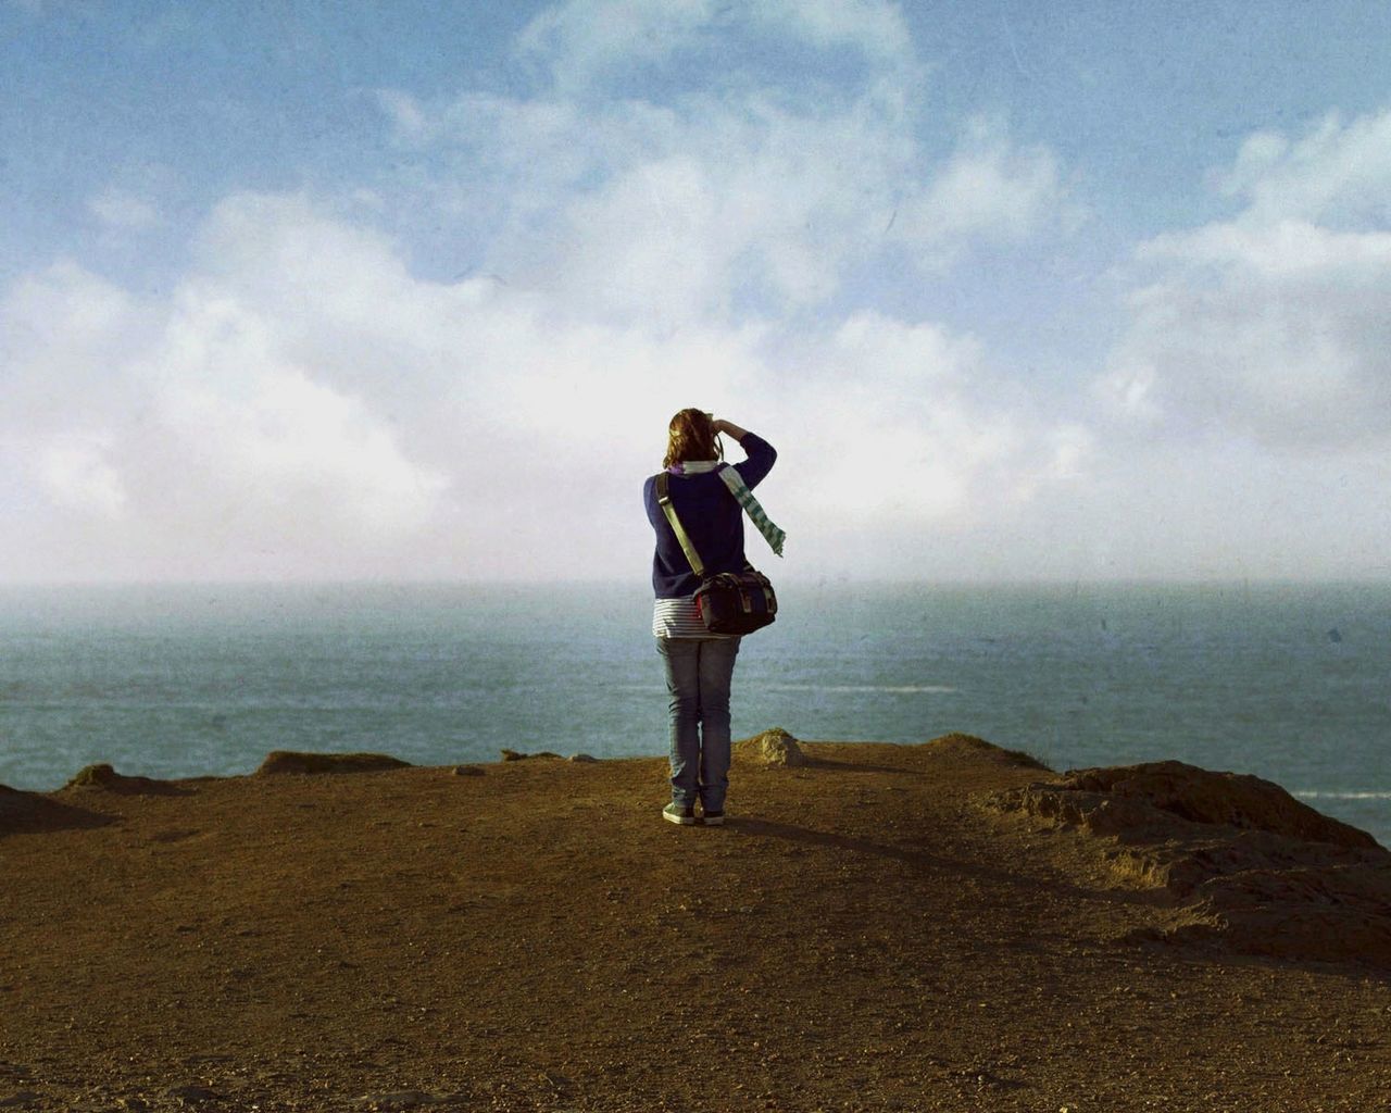
[(576, 58), (584, 72), (611, 54), (666, 58), (716, 32), (849, 51), (858, 67), (830, 90), (733, 51), (721, 81), (657, 82), (645, 97), (587, 97), (566, 81), (531, 97), (381, 92), (398, 142), (449, 167), (435, 213), (479, 243), (479, 271), (587, 316), (741, 321), (810, 313), (878, 267), (940, 277), (974, 245), (1070, 216), (1056, 156), (1003, 120), (971, 121), (946, 159), (928, 150), (924, 75), (896, 7), (611, 7), (612, 26), (590, 4), (554, 8), (523, 42), (552, 74)]

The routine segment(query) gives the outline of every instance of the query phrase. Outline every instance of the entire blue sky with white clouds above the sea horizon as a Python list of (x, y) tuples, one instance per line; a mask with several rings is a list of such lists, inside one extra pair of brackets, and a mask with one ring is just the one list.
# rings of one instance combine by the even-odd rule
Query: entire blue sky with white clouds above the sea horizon
[(0, 0), (0, 583), (641, 583), (686, 406), (778, 448), (775, 582), (1385, 579), (1387, 43)]

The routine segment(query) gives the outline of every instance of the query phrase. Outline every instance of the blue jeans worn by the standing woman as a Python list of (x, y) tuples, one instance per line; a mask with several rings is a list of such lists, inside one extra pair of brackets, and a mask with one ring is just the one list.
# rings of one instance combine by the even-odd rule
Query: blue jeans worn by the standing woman
[(666, 665), (672, 800), (705, 811), (725, 810), (729, 787), (729, 686), (734, 678), (737, 637), (659, 637)]

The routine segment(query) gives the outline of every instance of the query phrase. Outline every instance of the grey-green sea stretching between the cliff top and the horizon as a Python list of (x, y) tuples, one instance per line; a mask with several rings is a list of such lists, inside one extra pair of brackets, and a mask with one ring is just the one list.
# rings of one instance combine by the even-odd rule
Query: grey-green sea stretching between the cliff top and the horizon
[[(1177, 758), (1391, 846), (1391, 584), (808, 582), (779, 600), (740, 647), (736, 737), (960, 730), (1057, 771)], [(270, 750), (664, 754), (650, 620), (645, 583), (4, 587), (0, 783), (51, 790), (92, 762), (238, 775)]]

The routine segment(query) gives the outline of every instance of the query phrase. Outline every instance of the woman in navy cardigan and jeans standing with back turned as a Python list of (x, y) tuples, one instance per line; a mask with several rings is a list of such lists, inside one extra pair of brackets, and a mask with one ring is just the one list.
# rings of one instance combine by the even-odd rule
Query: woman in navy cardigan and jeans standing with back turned
[[(744, 559), (744, 519), (729, 486), (718, 474), (723, 452), (716, 437), (727, 433), (748, 459), (736, 463), (746, 487), (755, 487), (773, 466), (778, 454), (761, 437), (733, 422), (698, 409), (683, 409), (668, 427), (666, 459), (672, 508), (691, 545), (705, 565), (705, 575), (739, 572)], [(669, 733), (672, 803), (662, 818), (694, 824), (696, 804), (707, 825), (725, 821), (729, 786), (729, 686), (739, 655), (739, 637), (712, 634), (696, 612), (700, 579), (691, 570), (666, 515), (657, 501), (657, 477), (643, 488), (647, 520), (657, 531), (652, 558), (652, 634), (666, 666), (670, 694)]]

